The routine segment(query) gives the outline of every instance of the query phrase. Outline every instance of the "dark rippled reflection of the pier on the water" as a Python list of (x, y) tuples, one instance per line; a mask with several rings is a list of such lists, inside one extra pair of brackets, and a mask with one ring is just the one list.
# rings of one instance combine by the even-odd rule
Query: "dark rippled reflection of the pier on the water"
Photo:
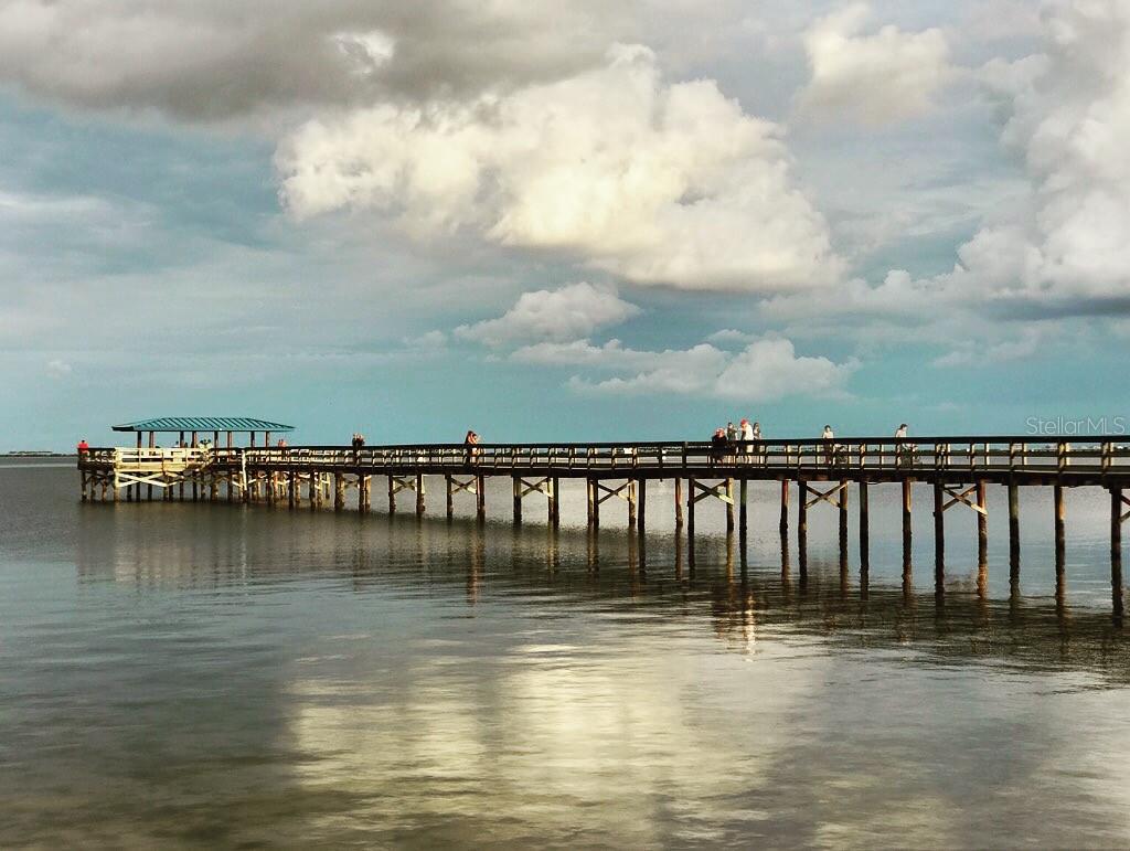
[[(641, 536), (620, 530), (527, 526), (499, 535), (464, 519), (354, 523), (311, 514), (280, 526), (266, 518), (257, 523), (255, 513), (217, 527), (205, 514), (177, 512), (173, 533), (155, 538), (138, 516), (115, 512), (107, 527), (107, 514), (84, 512), (84, 576), (194, 589), (344, 578), (357, 593), (426, 588), (429, 597), (446, 593), (469, 606), (530, 600), (548, 607), (547, 615), (555, 607), (565, 614), (607, 603), (618, 616), (697, 624), (737, 652), (756, 652), (760, 642), (785, 633), (913, 651), (939, 662), (1080, 670), (1130, 684), (1130, 643), (1102, 609), (1072, 608), (1062, 594), (1023, 597), (1016, 587), (993, 599), (981, 582), (923, 592), (897, 579), (849, 578), (834, 559), (800, 572), (788, 552), (780, 566), (744, 564), (737, 536), (702, 540), (692, 567), (679, 530), (650, 533), (649, 561)], [(319, 566), (288, 563), (285, 554), (299, 548)]]

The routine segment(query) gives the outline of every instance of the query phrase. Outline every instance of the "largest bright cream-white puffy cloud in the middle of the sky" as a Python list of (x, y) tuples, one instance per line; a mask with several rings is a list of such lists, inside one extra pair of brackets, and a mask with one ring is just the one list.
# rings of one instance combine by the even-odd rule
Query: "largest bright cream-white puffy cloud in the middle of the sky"
[(666, 84), (638, 45), (502, 96), (307, 122), (277, 166), (298, 218), (376, 210), (420, 236), (468, 229), (638, 284), (782, 292), (840, 268), (780, 129), (711, 80)]

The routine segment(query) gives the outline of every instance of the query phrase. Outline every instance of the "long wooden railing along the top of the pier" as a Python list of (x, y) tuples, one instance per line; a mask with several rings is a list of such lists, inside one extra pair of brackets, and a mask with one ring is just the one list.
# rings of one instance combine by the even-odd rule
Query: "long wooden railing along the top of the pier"
[(80, 466), (146, 470), (171, 466), (319, 469), (560, 472), (718, 470), (720, 474), (796, 474), (805, 470), (928, 474), (1130, 474), (1130, 438), (847, 437), (647, 443), (483, 443), (206, 449), (92, 449)]

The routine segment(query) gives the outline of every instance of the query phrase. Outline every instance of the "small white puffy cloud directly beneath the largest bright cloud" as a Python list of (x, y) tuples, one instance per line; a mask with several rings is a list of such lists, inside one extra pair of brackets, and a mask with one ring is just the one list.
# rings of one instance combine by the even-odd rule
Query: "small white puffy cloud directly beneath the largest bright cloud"
[(571, 284), (560, 289), (523, 293), (518, 303), (498, 319), (460, 325), (455, 335), (488, 346), (548, 339), (567, 340), (618, 325), (640, 309), (610, 288)]

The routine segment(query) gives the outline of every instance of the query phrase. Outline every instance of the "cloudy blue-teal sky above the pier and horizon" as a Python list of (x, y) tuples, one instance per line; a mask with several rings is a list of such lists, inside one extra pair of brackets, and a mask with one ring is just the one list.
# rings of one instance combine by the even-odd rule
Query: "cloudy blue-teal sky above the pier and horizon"
[(1112, 431), (1128, 141), (1130, 0), (0, 0), (0, 451)]

